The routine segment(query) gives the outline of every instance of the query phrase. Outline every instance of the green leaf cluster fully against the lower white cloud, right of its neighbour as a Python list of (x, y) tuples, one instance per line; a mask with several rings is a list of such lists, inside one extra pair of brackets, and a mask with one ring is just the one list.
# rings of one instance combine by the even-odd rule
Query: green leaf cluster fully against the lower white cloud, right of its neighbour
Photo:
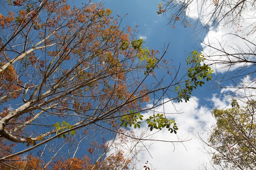
[(151, 131), (153, 129), (162, 130), (162, 128), (168, 128), (168, 130), (171, 133), (172, 132), (174, 132), (175, 134), (177, 133), (178, 128), (175, 120), (166, 119), (164, 114), (159, 114), (159, 113), (157, 113), (156, 115), (154, 114), (153, 116), (150, 116), (148, 119), (146, 119), (146, 121)]

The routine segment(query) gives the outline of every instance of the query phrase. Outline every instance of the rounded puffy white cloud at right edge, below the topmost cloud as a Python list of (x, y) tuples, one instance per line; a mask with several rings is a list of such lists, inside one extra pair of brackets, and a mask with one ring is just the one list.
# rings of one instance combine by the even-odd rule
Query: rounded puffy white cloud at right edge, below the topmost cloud
[[(255, 60), (253, 55), (244, 55), (245, 53), (254, 53), (255, 45), (253, 42), (256, 35), (247, 36), (243, 31), (234, 30), (233, 27), (218, 26), (207, 33), (201, 46), (203, 55), (207, 56), (207, 64), (213, 64), (213, 69), (217, 73), (226, 73), (244, 67), (244, 62), (238, 62), (230, 66), (231, 62), (246, 60)], [(244, 39), (245, 38), (245, 39)], [(228, 54), (228, 55), (227, 55)], [(249, 66), (249, 63), (247, 63)]]

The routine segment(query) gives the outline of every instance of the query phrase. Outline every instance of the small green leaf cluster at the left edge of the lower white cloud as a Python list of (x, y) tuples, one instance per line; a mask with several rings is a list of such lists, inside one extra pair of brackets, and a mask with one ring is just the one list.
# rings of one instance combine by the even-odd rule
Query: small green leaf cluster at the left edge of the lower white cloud
[(134, 126), (134, 128), (136, 129), (137, 127), (140, 128), (140, 124), (141, 121), (138, 120), (142, 120), (143, 115), (141, 115), (141, 113), (136, 113), (136, 110), (129, 110), (129, 113), (125, 114), (121, 119), (121, 124), (120, 126), (124, 126), (125, 128), (127, 128), (127, 126), (129, 125), (130, 127), (132, 127), (132, 125)]

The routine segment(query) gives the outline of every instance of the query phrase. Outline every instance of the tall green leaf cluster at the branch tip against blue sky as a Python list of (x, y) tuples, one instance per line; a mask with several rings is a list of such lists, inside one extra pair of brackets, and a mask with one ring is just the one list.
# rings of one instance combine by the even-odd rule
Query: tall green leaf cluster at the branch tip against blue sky
[(178, 102), (182, 102), (182, 99), (184, 99), (185, 102), (189, 101), (193, 89), (205, 84), (205, 79), (206, 81), (212, 79), (213, 70), (208, 64), (202, 64), (204, 60), (206, 60), (204, 55), (198, 53), (196, 50), (192, 52), (192, 56), (188, 55), (186, 63), (187, 65), (191, 65), (187, 70), (189, 79), (185, 81), (183, 88), (181, 88), (180, 85), (175, 87), (175, 91), (178, 94)]

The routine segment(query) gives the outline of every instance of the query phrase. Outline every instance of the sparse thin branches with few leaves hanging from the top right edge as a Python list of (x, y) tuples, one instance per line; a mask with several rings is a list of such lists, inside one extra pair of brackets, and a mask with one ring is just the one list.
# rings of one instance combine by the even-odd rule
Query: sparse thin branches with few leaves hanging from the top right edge
[[(167, 12), (171, 15), (171, 17), (168, 17), (168, 24), (174, 24), (179, 21), (185, 27), (193, 20), (207, 27), (218, 26), (219, 24), (237, 24), (245, 19), (241, 14), (246, 10), (254, 10), (253, 7), (255, 5), (255, 2), (251, 0), (236, 0), (232, 2), (228, 0), (163, 1), (165, 4), (161, 8), (162, 12)], [(193, 16), (189, 15), (191, 12), (194, 13)], [(255, 24), (252, 26), (250, 29), (255, 30)]]

